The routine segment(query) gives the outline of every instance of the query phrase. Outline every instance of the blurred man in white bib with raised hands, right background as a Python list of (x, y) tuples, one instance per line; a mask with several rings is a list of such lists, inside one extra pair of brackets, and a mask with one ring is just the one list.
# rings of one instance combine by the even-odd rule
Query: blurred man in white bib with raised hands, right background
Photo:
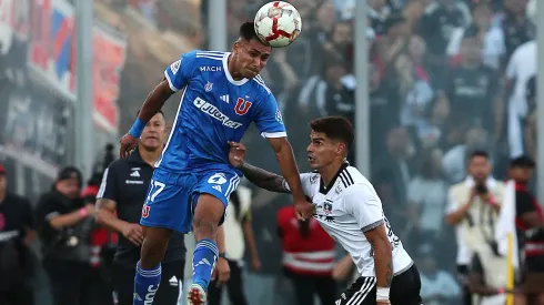
[(456, 228), (457, 268), (464, 286), (464, 304), (472, 304), (469, 265), (474, 253), (478, 253), (484, 263), (486, 257), (497, 253), (494, 223), (503, 200), (504, 184), (491, 176), (487, 152), (472, 153), (467, 169), (466, 180), (450, 187), (446, 223)]

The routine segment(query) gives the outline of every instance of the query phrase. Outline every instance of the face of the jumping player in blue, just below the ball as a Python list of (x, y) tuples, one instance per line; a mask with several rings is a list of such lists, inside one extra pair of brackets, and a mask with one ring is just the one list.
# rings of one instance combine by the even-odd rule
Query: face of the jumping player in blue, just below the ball
[(234, 43), (235, 70), (239, 75), (252, 79), (266, 65), (272, 48), (258, 39)]

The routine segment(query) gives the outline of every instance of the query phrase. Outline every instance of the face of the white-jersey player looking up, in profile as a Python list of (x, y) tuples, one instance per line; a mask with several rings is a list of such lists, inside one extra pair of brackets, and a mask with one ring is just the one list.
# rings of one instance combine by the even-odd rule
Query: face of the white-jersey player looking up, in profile
[(310, 133), (310, 145), (308, 145), (308, 162), (314, 170), (319, 170), (342, 157), (345, 144), (333, 141), (322, 132)]

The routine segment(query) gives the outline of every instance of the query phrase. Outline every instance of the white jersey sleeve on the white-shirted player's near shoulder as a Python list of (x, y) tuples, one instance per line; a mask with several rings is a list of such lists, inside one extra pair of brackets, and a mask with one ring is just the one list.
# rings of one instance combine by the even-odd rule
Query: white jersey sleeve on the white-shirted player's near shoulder
[(366, 184), (355, 184), (344, 192), (344, 210), (355, 217), (363, 232), (371, 231), (384, 223), (382, 201), (374, 189)]

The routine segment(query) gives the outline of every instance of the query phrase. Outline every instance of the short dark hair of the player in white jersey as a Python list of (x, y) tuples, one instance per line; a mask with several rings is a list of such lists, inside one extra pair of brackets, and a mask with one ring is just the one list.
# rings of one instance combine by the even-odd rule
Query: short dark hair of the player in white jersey
[(322, 132), (326, 138), (342, 141), (347, 145), (347, 151), (353, 145), (355, 132), (351, 122), (343, 116), (325, 116), (310, 122), (312, 131)]

